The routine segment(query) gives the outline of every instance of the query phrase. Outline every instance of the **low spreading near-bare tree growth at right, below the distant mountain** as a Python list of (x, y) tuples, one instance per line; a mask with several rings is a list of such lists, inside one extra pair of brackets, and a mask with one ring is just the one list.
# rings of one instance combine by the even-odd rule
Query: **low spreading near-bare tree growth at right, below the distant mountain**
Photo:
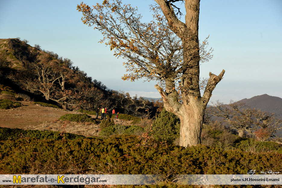
[(220, 101), (213, 103), (214, 106), (207, 108), (206, 114), (220, 117), (217, 119), (220, 124), (238, 130), (238, 135), (244, 137), (244, 132), (255, 133), (261, 140), (277, 139), (281, 137), (279, 130), (282, 129), (282, 120), (275, 114), (251, 109), (245, 103), (230, 101), (224, 105)]

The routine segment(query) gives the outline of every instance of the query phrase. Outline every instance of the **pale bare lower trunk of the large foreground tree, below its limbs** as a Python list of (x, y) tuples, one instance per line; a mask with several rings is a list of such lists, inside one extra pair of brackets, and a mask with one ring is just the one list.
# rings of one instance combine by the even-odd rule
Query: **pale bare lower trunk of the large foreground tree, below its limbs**
[(191, 100), (188, 105), (182, 105), (179, 109), (180, 141), (183, 147), (195, 146), (201, 143), (201, 130), (203, 124), (204, 109), (200, 101)]

